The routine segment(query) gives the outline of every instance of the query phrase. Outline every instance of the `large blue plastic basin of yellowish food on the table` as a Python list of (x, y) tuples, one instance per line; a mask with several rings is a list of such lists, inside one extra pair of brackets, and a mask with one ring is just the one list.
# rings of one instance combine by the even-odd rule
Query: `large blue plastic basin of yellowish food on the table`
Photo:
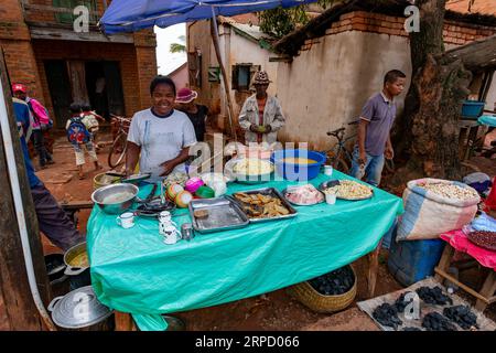
[[(316, 163), (295, 164), (284, 161), (285, 158), (306, 158)], [(306, 181), (316, 178), (325, 159), (325, 156), (320, 152), (303, 149), (278, 150), (270, 157), (270, 161), (276, 167), (276, 173), (289, 181)]]

